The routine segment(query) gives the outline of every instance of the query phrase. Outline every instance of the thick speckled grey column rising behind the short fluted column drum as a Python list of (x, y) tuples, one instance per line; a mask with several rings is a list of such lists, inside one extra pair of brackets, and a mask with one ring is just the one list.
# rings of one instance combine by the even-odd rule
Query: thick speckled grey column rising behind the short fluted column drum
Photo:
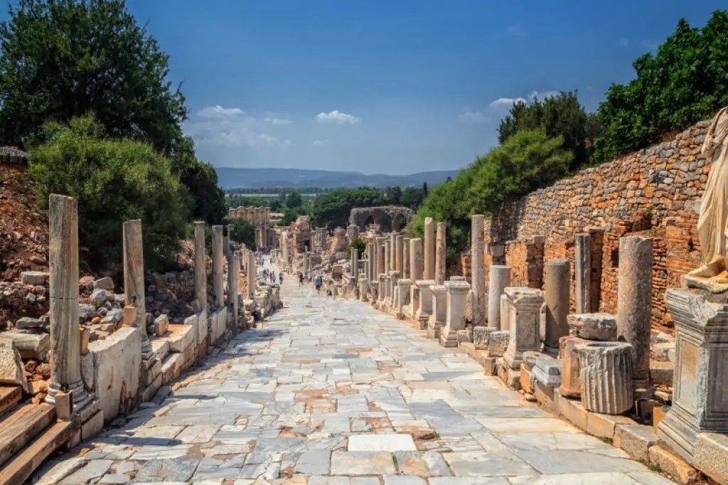
[(649, 341), (652, 320), (652, 239), (620, 238), (617, 280), (617, 339), (632, 344), (632, 385), (639, 396), (650, 394)]

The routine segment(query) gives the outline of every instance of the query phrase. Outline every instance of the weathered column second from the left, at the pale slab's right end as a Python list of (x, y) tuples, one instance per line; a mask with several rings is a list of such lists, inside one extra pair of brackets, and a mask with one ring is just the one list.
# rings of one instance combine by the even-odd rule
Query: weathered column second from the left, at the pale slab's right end
[(141, 331), (141, 356), (151, 357), (151, 344), (146, 334), (146, 301), (144, 300), (144, 251), (141, 220), (126, 221), (122, 225), (124, 237), (124, 300), (136, 307), (134, 326)]

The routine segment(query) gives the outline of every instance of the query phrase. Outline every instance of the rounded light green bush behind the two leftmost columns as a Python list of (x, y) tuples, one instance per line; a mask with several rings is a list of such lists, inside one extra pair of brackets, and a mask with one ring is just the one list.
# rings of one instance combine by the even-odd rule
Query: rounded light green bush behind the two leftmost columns
[(47, 142), (29, 156), (39, 206), (50, 194), (76, 197), (79, 238), (92, 262), (122, 261), (122, 223), (141, 219), (145, 265), (178, 251), (186, 221), (185, 191), (169, 160), (149, 144), (104, 137), (90, 116), (45, 126)]

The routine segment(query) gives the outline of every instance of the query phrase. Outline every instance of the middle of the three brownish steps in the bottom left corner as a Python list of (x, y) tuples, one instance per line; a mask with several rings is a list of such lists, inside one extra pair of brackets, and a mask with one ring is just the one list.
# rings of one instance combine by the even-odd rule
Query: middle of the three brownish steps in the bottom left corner
[(55, 421), (55, 406), (23, 404), (0, 422), (0, 465)]

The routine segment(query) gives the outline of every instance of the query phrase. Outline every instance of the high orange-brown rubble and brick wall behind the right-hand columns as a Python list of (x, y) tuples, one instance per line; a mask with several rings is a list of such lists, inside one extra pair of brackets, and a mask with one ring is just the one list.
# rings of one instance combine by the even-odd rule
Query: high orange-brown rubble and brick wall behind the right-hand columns
[[(574, 309), (574, 234), (592, 232), (592, 301), (616, 311), (619, 238), (654, 238), (653, 325), (671, 326), (665, 288), (700, 264), (696, 224), (710, 162), (700, 154), (708, 122), (649, 149), (558, 181), (510, 203), (490, 221), (486, 242), (507, 245), (513, 283), (526, 285), (526, 240), (545, 236), (544, 258), (571, 261)], [(487, 258), (486, 258), (487, 260)], [(487, 263), (487, 261), (486, 261)]]

